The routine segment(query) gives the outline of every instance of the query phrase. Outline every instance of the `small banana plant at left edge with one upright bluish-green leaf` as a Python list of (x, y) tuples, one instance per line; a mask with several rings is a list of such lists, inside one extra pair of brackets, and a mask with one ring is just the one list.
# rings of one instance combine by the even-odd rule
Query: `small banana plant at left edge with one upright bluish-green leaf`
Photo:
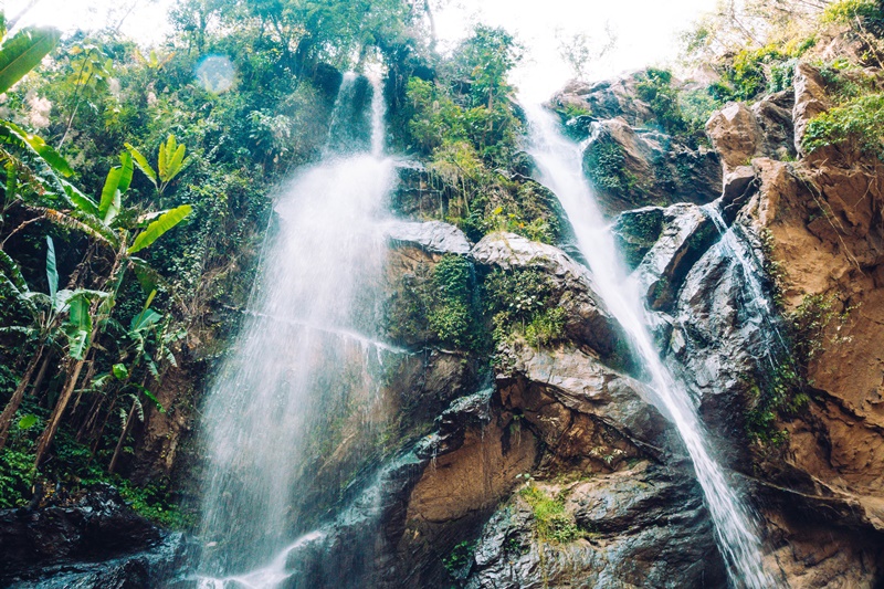
[(6, 445), (10, 424), (19, 410), (24, 391), (31, 383), (34, 369), (44, 354), (52, 354), (59, 346), (61, 334), (67, 339), (67, 354), (74, 359), (83, 358), (83, 350), (88, 345), (92, 326), (88, 322), (88, 305), (92, 301), (107, 297), (107, 293), (87, 288), (59, 290), (59, 271), (55, 265), (55, 245), (52, 238), (46, 236), (46, 281), (49, 294), (31, 291), (24, 282), (15, 262), (0, 251), (0, 283), (13, 301), (23, 308), (30, 324), (0, 328), (2, 333), (19, 334), (36, 344), (36, 351), (28, 362), (19, 386), (0, 414), (0, 449)]

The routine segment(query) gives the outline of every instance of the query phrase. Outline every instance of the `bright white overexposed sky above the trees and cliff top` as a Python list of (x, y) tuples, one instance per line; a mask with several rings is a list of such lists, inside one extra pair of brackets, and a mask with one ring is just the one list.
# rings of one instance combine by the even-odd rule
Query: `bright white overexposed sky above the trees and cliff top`
[[(8, 18), (30, 0), (0, 0)], [(676, 52), (676, 35), (716, 0), (443, 0), (436, 10), (439, 36), (444, 44), (463, 38), (472, 23), (504, 27), (515, 33), (527, 50), (516, 75), (523, 94), (540, 99), (570, 77), (559, 57), (560, 39), (583, 33), (604, 38), (606, 23), (618, 43), (604, 63), (591, 72), (604, 77), (627, 70), (665, 63)], [(166, 12), (172, 0), (38, 0), (21, 24), (52, 24), (63, 30), (116, 27), (144, 43), (162, 39), (169, 28)]]

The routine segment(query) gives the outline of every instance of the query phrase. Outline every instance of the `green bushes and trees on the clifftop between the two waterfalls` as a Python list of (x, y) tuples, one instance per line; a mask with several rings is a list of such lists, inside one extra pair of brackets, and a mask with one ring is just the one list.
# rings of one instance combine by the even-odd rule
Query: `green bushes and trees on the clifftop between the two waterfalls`
[(433, 78), (409, 78), (398, 139), (442, 185), (448, 202), (439, 217), (471, 239), (503, 230), (555, 243), (555, 199), (517, 166), (522, 122), (507, 74), (519, 60), (508, 33), (477, 27)]

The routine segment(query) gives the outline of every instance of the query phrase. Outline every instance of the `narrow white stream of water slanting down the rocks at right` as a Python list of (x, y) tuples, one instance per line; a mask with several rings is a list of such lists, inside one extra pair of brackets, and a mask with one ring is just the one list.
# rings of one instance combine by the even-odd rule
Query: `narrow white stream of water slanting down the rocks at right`
[(614, 241), (583, 177), (580, 146), (561, 135), (554, 116), (541, 106), (527, 106), (525, 112), (532, 133), (530, 154), (539, 168), (539, 181), (559, 199), (573, 228), (577, 246), (591, 271), (596, 292), (629, 335), (661, 408), (669, 413), (684, 441), (732, 582), (751, 589), (771, 587), (774, 582), (761, 564), (760, 543), (750, 512), (709, 455), (702, 424), (685, 388), (674, 382), (654, 347), (642, 297), (621, 269)]

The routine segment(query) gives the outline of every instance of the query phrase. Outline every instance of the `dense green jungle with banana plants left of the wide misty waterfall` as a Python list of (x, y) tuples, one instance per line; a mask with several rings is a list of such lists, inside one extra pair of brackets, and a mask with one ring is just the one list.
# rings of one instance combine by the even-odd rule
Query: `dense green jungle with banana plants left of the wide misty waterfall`
[(126, 478), (147, 423), (192, 409), (166, 380), (199, 381), (223, 350), (269, 188), (318, 156), (339, 70), (420, 50), (412, 18), (399, 0), (192, 0), (149, 54), (109, 30), (3, 41), (0, 506), (110, 482), (151, 518), (186, 519), (165, 483)]

